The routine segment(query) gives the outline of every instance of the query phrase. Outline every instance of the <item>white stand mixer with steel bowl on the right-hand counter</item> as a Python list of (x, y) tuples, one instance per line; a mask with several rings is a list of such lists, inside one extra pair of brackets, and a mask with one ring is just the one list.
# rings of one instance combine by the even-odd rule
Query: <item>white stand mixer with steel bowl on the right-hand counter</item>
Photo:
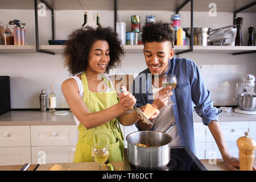
[(237, 113), (256, 114), (255, 76), (249, 74), (237, 89)]

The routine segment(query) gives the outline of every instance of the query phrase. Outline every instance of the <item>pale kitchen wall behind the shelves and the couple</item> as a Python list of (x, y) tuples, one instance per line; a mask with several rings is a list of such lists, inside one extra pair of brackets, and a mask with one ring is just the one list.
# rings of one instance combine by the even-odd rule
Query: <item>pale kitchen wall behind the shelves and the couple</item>
[[(86, 10), (85, 10), (86, 11)], [(88, 23), (93, 21), (92, 14), (100, 13), (102, 26), (114, 27), (113, 11), (87, 11)], [(126, 31), (130, 31), (130, 16), (141, 15), (142, 24), (146, 15), (153, 14), (156, 21), (170, 22), (172, 11), (118, 11), (118, 21), (126, 22)], [(247, 28), (255, 26), (255, 15), (241, 13), (243, 19), (243, 45), (247, 44)], [(11, 19), (20, 19), (27, 23), (27, 44), (35, 44), (34, 10), (0, 10), (0, 22), (8, 23)], [(84, 11), (55, 10), (55, 39), (67, 39), (84, 21)], [(209, 17), (208, 12), (194, 13), (194, 27), (219, 28), (233, 23), (233, 13), (217, 13), (217, 17)], [(181, 27), (190, 26), (190, 12), (181, 11)], [(13, 29), (13, 27), (11, 28)], [(221, 36), (222, 32), (217, 36)], [(51, 14), (39, 17), (39, 44), (46, 45), (51, 40)], [(212, 92), (214, 105), (236, 105), (236, 83), (247, 74), (256, 76), (255, 53), (233, 56), (228, 53), (184, 53), (180, 57), (192, 59), (199, 66), (205, 85)], [(57, 107), (67, 108), (67, 102), (61, 92), (61, 83), (70, 75), (64, 68), (64, 59), (60, 53), (0, 53), (0, 75), (11, 77), (11, 108), (39, 108), (39, 94), (42, 89), (50, 92), (53, 85), (57, 96)], [(141, 53), (126, 53), (122, 67), (115, 69), (115, 74), (130, 73), (137, 75), (146, 68)]]

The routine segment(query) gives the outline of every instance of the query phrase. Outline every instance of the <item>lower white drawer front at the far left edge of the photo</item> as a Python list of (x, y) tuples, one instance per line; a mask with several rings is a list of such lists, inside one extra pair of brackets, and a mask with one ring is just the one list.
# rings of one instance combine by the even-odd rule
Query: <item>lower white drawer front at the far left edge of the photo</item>
[(31, 164), (31, 147), (0, 147), (0, 166)]

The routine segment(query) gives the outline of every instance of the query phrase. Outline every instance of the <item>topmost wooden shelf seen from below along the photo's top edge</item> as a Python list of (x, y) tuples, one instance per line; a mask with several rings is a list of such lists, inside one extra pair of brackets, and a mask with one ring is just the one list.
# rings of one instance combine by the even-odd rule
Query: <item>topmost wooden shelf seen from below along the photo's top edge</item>
[[(114, 10), (114, 0), (44, 0), (54, 10)], [(118, 10), (145, 10), (145, 11), (176, 11), (186, 0), (126, 0), (117, 1)], [(209, 11), (209, 4), (216, 3), (218, 12), (234, 12), (255, 2), (255, 0), (197, 0), (194, 2), (194, 11)], [(40, 3), (40, 2), (39, 2)], [(1, 9), (34, 10), (34, 0), (0, 1)], [(183, 11), (190, 11), (189, 5)], [(255, 13), (256, 7), (243, 11)]]

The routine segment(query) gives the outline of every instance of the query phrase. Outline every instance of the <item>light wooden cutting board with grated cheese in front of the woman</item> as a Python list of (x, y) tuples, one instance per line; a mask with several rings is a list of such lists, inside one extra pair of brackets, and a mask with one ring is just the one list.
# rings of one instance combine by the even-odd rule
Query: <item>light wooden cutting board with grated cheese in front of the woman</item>
[[(96, 162), (40, 164), (36, 171), (48, 171), (55, 164), (59, 164), (63, 171), (100, 171), (100, 164)], [(123, 171), (123, 162), (111, 162), (111, 164), (114, 171)], [(108, 169), (105, 167), (102, 170)]]

